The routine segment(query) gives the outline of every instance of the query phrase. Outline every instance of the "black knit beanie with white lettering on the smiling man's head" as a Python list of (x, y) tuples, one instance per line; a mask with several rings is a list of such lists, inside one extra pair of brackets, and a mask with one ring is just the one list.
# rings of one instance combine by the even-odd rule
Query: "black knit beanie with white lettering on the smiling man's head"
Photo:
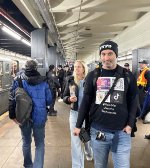
[(113, 50), (116, 57), (118, 57), (118, 45), (113, 41), (105, 41), (102, 43), (99, 47), (99, 54), (101, 54), (103, 50)]

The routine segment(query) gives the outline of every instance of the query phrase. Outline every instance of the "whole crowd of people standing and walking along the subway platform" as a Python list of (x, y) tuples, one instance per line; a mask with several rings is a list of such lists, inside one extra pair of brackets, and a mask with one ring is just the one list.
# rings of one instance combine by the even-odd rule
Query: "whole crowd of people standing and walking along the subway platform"
[[(88, 73), (84, 61), (76, 60), (74, 68), (68, 65), (49, 66), (46, 77), (37, 71), (35, 60), (27, 61), (24, 73), (19, 74), (23, 88), (33, 101), (31, 120), (23, 125), (15, 115), (14, 78), (9, 97), (9, 117), (16, 122), (23, 139), (25, 168), (43, 168), (44, 138), (47, 114), (57, 116), (56, 97), (70, 104), (70, 135), (72, 168), (84, 168), (84, 156), (94, 160), (95, 168), (107, 168), (112, 153), (115, 168), (130, 168), (131, 135), (136, 131), (136, 118), (144, 119), (150, 111), (150, 69), (148, 61), (140, 60), (136, 77), (129, 64), (117, 64), (118, 45), (105, 41), (99, 47), (101, 64)], [(140, 98), (140, 99), (139, 99)], [(140, 114), (137, 113), (140, 111)], [(91, 140), (82, 143), (81, 128), (90, 132)], [(33, 132), (36, 151), (31, 158)], [(145, 136), (150, 139), (150, 135)]]

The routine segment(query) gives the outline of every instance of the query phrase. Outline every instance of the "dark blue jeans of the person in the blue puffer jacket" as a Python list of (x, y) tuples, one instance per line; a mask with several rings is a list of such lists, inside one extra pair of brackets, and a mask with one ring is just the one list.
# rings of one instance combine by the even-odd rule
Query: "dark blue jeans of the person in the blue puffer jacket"
[[(43, 168), (44, 165), (44, 153), (45, 153), (45, 124), (35, 126), (28, 122), (20, 126), (21, 135), (23, 140), (22, 150), (24, 156), (24, 167), (25, 168)], [(31, 155), (31, 142), (32, 132), (35, 142), (35, 158), (32, 162)]]

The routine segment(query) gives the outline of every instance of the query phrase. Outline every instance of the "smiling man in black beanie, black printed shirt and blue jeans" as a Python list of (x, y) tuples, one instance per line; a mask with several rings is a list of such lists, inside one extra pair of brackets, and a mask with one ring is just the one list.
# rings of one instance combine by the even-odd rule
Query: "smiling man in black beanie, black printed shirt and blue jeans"
[[(117, 65), (118, 45), (105, 41), (100, 45), (102, 68), (95, 80), (95, 70), (85, 81), (84, 96), (74, 135), (79, 135), (84, 119), (89, 116), (95, 168), (108, 166), (112, 152), (114, 167), (130, 167), (131, 131), (136, 119), (137, 85), (133, 74)], [(108, 94), (115, 79), (117, 83)], [(105, 96), (108, 95), (104, 101)]]

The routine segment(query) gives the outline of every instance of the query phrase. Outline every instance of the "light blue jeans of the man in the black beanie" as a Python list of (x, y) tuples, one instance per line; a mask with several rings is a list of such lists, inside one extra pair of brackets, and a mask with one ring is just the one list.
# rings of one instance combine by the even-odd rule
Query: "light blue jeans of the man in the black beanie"
[(107, 168), (109, 152), (112, 152), (114, 168), (130, 168), (131, 136), (123, 131), (105, 132), (106, 140), (96, 140), (98, 130), (91, 128), (91, 145), (94, 167)]

